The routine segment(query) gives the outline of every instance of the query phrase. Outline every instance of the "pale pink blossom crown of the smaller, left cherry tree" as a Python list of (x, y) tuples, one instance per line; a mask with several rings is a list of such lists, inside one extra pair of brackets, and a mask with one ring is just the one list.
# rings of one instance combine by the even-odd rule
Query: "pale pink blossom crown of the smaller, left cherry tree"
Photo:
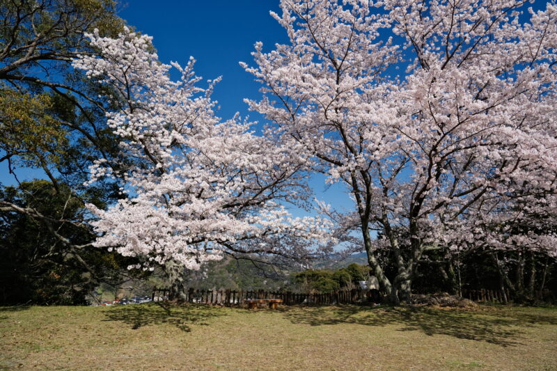
[[(151, 38), (126, 29), (119, 38), (88, 35), (100, 56), (82, 55), (74, 67), (108, 84), (118, 109), (108, 125), (120, 137), (122, 171), (100, 160), (91, 180), (117, 177), (124, 196), (108, 210), (89, 205), (97, 246), (144, 258), (143, 268), (199, 269), (223, 253), (274, 254), (304, 260), (324, 238), (327, 221), (294, 218), (283, 205), (301, 204), (306, 161), (296, 141), (265, 129), (256, 135), (237, 117), (221, 122), (199, 87), (194, 60), (160, 63)], [(139, 267), (136, 267), (139, 268)]]

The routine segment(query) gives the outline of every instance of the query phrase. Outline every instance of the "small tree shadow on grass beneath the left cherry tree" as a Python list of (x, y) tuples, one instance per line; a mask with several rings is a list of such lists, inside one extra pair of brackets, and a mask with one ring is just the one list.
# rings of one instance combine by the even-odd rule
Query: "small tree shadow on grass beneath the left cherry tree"
[(224, 315), (220, 308), (198, 305), (179, 305), (168, 302), (116, 306), (105, 315), (104, 321), (120, 321), (139, 329), (142, 326), (171, 324), (182, 331), (191, 325), (207, 326), (207, 319)]

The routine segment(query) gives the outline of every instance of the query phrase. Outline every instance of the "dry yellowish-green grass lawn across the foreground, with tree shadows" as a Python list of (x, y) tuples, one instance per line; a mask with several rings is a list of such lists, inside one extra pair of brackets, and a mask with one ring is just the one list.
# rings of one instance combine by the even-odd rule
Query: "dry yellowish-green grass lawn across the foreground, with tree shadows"
[(557, 370), (557, 308), (0, 308), (0, 369)]

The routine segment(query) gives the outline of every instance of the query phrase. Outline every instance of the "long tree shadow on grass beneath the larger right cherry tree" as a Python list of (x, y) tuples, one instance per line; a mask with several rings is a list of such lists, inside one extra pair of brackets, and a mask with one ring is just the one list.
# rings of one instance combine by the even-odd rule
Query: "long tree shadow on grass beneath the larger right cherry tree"
[(359, 306), (283, 308), (295, 324), (361, 324), (402, 326), (399, 331), (421, 331), (459, 339), (489, 342), (503, 347), (519, 345), (521, 327), (557, 324), (556, 315), (513, 313), (505, 310), (457, 310), (428, 307), (366, 308)]

